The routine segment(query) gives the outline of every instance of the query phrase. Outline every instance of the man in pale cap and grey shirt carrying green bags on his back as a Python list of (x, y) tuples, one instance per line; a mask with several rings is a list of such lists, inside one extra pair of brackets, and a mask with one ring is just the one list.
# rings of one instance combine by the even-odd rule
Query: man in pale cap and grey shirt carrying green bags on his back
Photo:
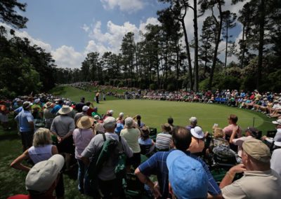
[[(105, 128), (105, 139), (115, 139), (118, 141), (120, 140), (122, 142), (124, 153), (128, 158), (131, 158), (131, 156), (133, 156), (133, 151), (130, 149), (126, 140), (123, 137), (119, 137), (115, 133), (115, 127), (115, 118), (110, 116), (105, 118), (105, 120), (103, 121), (103, 128)], [(104, 142), (105, 140), (103, 139), (102, 134), (98, 134), (93, 137), (89, 145), (81, 153), (81, 160), (86, 165), (89, 165), (89, 158), (91, 158), (92, 156), (98, 156), (98, 151), (102, 149)], [(103, 168), (98, 173), (98, 185), (100, 193), (104, 198), (109, 198), (110, 195), (113, 198), (119, 198), (119, 196), (122, 194), (122, 179), (118, 179), (115, 176), (115, 167), (118, 162), (118, 157), (118, 153), (112, 154), (112, 156), (110, 156)]]

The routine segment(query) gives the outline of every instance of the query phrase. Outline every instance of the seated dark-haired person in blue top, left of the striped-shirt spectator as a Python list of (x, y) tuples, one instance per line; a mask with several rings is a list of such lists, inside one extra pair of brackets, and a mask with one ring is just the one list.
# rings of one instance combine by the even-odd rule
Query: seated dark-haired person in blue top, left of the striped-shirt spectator
[(149, 137), (150, 128), (144, 126), (141, 128), (141, 137), (138, 138), (138, 144), (141, 146), (141, 154), (148, 156), (155, 149), (155, 144), (152, 139)]

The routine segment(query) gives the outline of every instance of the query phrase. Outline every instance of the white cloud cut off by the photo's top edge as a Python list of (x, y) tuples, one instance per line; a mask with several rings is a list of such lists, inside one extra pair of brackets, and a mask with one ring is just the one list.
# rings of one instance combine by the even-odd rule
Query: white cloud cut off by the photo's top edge
[(141, 0), (100, 0), (105, 9), (114, 9), (118, 7), (120, 11), (129, 13), (143, 9), (145, 3)]

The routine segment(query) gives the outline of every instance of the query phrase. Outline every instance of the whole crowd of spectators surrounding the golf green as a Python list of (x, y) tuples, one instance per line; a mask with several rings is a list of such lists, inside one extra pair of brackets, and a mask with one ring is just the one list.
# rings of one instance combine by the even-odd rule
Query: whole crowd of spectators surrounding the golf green
[[(235, 102), (230, 106), (240, 107), (231, 99), (249, 97), (256, 103), (257, 99), (274, 102), (279, 97), (270, 93), (259, 94), (258, 91), (251, 96), (235, 91), (228, 95), (228, 92), (218, 92), (216, 96), (210, 92), (209, 97), (206, 92), (204, 99), (189, 92), (186, 99), (192, 101), (186, 102), (195, 102), (196, 98), (197, 102), (215, 103), (217, 97), (227, 95), (226, 103)], [(242, 93), (244, 97), (241, 97)], [(170, 100), (170, 94), (161, 96), (168, 96), (166, 100)], [(145, 96), (151, 95), (143, 95), (143, 98)], [(214, 125), (213, 133), (204, 132), (195, 116), (188, 118), (186, 127), (176, 126), (173, 118), (167, 118), (161, 125), (161, 132), (150, 137), (152, 129), (145, 125), (145, 116), (124, 116), (124, 113), (116, 114), (113, 110), (101, 114), (98, 107), (85, 102), (84, 97), (76, 103), (40, 94), (18, 97), (6, 102), (5, 106), (14, 114), (22, 139), (23, 153), (13, 160), (11, 167), (28, 172), (25, 184), (29, 195), (11, 198), (54, 198), (54, 191), (57, 198), (65, 198), (63, 173), (73, 171), (74, 165), (78, 165), (77, 190), (81, 194), (124, 198), (126, 188), (122, 178), (115, 174), (120, 151), (126, 156), (127, 174), (135, 175), (143, 183), (143, 193), (150, 197), (280, 198), (281, 119), (273, 121), (277, 132), (271, 138), (259, 137), (256, 128), (242, 130), (233, 114), (228, 117), (228, 126)], [(245, 108), (260, 109), (256, 104)], [(272, 109), (264, 110), (270, 113)], [(93, 192), (87, 171), (106, 140), (115, 140), (119, 144), (98, 172), (98, 192)], [(142, 161), (142, 156), (147, 160)], [(76, 163), (73, 164), (72, 159), (76, 159)], [(31, 165), (25, 165), (23, 160), (29, 160)], [(212, 169), (219, 165), (228, 171), (220, 183), (212, 173)], [(244, 173), (243, 177), (240, 173)], [(157, 179), (152, 180), (152, 175)]]

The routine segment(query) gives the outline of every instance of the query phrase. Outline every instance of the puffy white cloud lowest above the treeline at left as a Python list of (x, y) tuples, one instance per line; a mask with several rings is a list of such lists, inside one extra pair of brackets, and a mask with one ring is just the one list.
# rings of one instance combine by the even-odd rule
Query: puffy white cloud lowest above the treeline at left
[(84, 55), (74, 50), (72, 46), (61, 46), (51, 52), (55, 64), (60, 68), (80, 68)]

